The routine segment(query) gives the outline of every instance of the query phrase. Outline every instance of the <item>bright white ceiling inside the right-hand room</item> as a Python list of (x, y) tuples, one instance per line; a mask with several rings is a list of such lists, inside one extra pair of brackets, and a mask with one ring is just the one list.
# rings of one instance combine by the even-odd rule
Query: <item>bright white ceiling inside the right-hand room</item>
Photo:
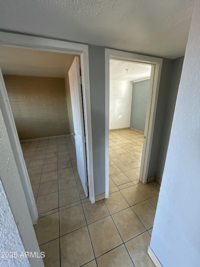
[[(128, 73), (127, 73), (127, 70)], [(151, 66), (132, 62), (110, 60), (110, 80), (137, 81), (150, 78)]]

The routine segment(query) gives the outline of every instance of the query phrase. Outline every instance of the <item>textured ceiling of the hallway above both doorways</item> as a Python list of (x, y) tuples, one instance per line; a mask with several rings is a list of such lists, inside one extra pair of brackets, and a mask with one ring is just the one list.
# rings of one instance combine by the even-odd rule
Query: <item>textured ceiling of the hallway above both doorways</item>
[(0, 27), (157, 55), (183, 56), (194, 0), (2, 0)]

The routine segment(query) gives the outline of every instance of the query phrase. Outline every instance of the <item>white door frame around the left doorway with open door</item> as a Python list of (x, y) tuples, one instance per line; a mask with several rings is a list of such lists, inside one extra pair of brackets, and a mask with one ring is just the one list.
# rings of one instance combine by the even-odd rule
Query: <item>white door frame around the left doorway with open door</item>
[[(48, 52), (57, 52), (57, 53), (63, 53), (63, 54), (80, 55), (81, 72), (82, 72), (82, 88), (83, 88), (83, 109), (84, 109), (85, 133), (86, 133), (88, 189), (89, 189), (89, 199), (91, 203), (94, 203), (95, 197), (94, 197), (94, 177), (93, 177), (93, 144), (92, 144), (92, 121), (91, 121), (88, 45), (71, 43), (71, 42), (60, 41), (60, 40), (55, 40), (55, 39), (48, 39), (48, 38), (43, 38), (43, 37), (17, 34), (17, 33), (7, 33), (7, 32), (0, 32), (0, 45), (32, 49), (32, 50), (48, 51)], [(7, 92), (6, 92), (6, 95), (7, 95)], [(12, 121), (14, 121), (12, 113), (10, 115), (11, 115)], [(5, 119), (6, 118), (4, 118), (4, 120)], [(9, 122), (5, 120), (5, 123), (8, 124)], [(14, 127), (16, 127), (15, 124), (14, 124)], [(21, 151), (21, 146), (20, 146), (18, 135), (17, 135), (17, 131), (11, 132), (11, 130), (8, 128), (8, 134), (9, 133), (11, 136), (12, 135), (14, 136), (13, 147), (17, 148), (20, 151), (20, 153), (16, 155), (17, 168), (20, 169), (20, 162), (22, 162), (24, 166), (25, 166), (25, 162), (22, 156), (22, 151)], [(12, 150), (13, 150), (13, 147), (12, 147)], [(37, 208), (36, 208), (36, 204), (34, 201), (34, 197), (32, 194), (32, 190), (29, 190), (31, 188), (31, 185), (30, 185), (30, 180), (29, 180), (26, 168), (24, 172), (21, 172), (20, 179), (22, 182), (22, 186), (24, 185), (23, 188), (25, 188), (25, 192), (24, 192), (25, 195), (27, 195), (31, 199), (31, 205), (28, 205), (28, 208), (29, 208), (30, 214), (32, 214), (32, 222), (33, 224), (35, 224), (37, 223), (38, 213), (37, 213)]]

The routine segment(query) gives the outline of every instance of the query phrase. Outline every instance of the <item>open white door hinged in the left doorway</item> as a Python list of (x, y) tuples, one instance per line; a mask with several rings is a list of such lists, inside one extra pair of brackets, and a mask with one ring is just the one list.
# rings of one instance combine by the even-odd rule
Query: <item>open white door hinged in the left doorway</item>
[(87, 197), (88, 178), (87, 178), (87, 166), (86, 166), (85, 131), (84, 131), (84, 121), (83, 121), (82, 92), (81, 92), (80, 82), (78, 82), (78, 76), (80, 76), (78, 57), (75, 57), (72, 66), (69, 69), (68, 74), (69, 74), (70, 94), (72, 100), (72, 113), (74, 122), (74, 137), (76, 143), (78, 174), (82, 182), (83, 190)]

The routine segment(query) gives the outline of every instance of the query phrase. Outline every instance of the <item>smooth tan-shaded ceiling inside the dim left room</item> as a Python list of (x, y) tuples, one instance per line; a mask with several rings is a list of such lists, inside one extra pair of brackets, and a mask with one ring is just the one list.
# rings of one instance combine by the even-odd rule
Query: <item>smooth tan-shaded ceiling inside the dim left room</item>
[(3, 74), (65, 77), (73, 55), (0, 46)]

